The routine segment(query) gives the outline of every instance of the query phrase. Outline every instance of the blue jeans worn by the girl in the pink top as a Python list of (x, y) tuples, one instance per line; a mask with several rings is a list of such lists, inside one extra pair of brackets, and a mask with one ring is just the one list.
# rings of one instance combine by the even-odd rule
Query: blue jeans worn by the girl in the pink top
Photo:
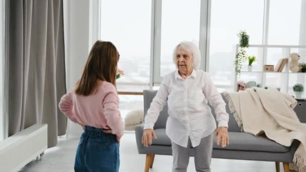
[(74, 171), (118, 172), (119, 164), (116, 135), (106, 134), (103, 129), (85, 126), (75, 155)]

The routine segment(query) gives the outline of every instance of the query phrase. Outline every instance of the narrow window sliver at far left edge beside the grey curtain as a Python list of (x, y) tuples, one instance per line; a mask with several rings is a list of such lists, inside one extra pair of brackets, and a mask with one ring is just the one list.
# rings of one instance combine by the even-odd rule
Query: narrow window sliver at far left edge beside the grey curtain
[(3, 110), (4, 99), (4, 58), (5, 58), (5, 18), (4, 18), (4, 1), (0, 0), (0, 141), (4, 139), (5, 118)]

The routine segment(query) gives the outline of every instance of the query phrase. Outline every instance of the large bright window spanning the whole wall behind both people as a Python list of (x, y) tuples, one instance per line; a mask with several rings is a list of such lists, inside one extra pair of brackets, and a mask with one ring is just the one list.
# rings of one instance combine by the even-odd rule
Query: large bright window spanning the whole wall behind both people
[[(173, 49), (184, 40), (199, 46), (201, 69), (210, 73), (218, 90), (234, 91), (237, 34), (246, 30), (250, 44), (306, 45), (304, 6), (301, 0), (104, 0), (101, 39), (114, 42), (120, 52), (119, 68), (125, 75), (117, 82), (119, 91), (157, 89), (163, 76), (175, 70)], [(258, 57), (253, 65), (256, 71), (262, 71), (263, 63), (277, 63), (282, 53), (275, 48), (247, 51)], [(269, 57), (267, 61), (263, 62), (263, 56)], [(240, 79), (264, 77), (271, 83), (281, 82), (280, 75), (256, 72)], [(125, 113), (134, 105), (142, 108), (141, 96), (121, 98)]]

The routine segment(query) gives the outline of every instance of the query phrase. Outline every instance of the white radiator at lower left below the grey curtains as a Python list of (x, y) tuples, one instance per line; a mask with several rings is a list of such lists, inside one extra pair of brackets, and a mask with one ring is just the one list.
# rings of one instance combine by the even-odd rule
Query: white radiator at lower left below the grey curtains
[(0, 171), (18, 171), (47, 149), (47, 124), (35, 124), (0, 142)]

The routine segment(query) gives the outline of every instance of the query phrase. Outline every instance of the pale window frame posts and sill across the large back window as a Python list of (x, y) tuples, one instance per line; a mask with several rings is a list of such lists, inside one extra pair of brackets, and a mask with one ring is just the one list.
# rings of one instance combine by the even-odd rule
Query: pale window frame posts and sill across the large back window
[[(105, 1), (105, 0), (104, 0)], [(161, 84), (163, 77), (161, 76), (161, 26), (162, 26), (162, 1), (163, 0), (151, 0), (151, 44), (150, 44), (150, 78), (148, 87), (152, 90), (155, 86)], [(199, 33), (199, 49), (201, 52), (201, 65), (200, 69), (209, 72), (209, 48), (210, 48), (210, 24), (211, 24), (211, 3), (212, 0), (201, 0), (200, 5), (200, 33)], [(101, 6), (100, 15), (101, 15)], [(265, 45), (268, 42), (269, 34), (269, 12), (270, 12), (270, 0), (264, 0), (264, 17), (262, 28), (262, 44)], [(100, 18), (99, 18), (100, 19)], [(98, 21), (101, 26), (101, 20)], [(264, 50), (266, 53), (266, 50)], [(266, 55), (266, 54), (265, 54)], [(233, 57), (234, 60), (234, 57)], [(233, 71), (235, 67), (233, 66)], [(263, 73), (265, 77), (265, 73)], [(147, 85), (146, 83), (129, 83), (118, 82), (118, 84), (124, 85)], [(220, 85), (215, 84), (219, 89), (232, 88), (232, 85)]]

